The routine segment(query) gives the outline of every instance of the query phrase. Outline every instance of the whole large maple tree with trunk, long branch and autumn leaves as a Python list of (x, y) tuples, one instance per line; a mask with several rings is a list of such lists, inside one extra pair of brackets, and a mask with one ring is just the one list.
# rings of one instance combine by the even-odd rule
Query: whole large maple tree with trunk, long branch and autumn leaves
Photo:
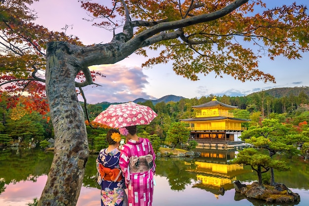
[(54, 32), (36, 24), (32, 3), (0, 1), (0, 88), (17, 95), (11, 105), (16, 118), (23, 115), (20, 107), (43, 110), (46, 90), (59, 146), (38, 206), (77, 204), (88, 141), (76, 88), (83, 95), (81, 88), (99, 75), (88, 67), (115, 64), (134, 52), (147, 56), (150, 49), (159, 54), (143, 67), (171, 62), (176, 74), (193, 81), (215, 73), (275, 82), (258, 69), (264, 55), (295, 59), (309, 49), (307, 8), (296, 3), (268, 8), (263, 0), (84, 0), (88, 20), (114, 32), (109, 43), (88, 46), (67, 35), (68, 26)]

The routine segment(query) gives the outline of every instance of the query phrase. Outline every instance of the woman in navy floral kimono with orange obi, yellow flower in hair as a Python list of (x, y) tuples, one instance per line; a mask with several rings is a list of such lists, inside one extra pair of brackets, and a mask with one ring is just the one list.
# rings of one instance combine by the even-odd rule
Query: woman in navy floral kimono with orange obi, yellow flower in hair
[(98, 183), (101, 185), (101, 206), (127, 206), (124, 178), (119, 167), (119, 131), (110, 129), (106, 140), (109, 146), (100, 151), (96, 160)]

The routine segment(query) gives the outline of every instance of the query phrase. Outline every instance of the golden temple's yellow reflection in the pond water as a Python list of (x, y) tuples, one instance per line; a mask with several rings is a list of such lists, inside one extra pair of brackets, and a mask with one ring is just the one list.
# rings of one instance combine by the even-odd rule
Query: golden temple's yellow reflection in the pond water
[(195, 151), (200, 152), (201, 157), (194, 159), (196, 169), (188, 171), (196, 173), (196, 183), (193, 187), (219, 194), (221, 187), (225, 190), (233, 188), (233, 181), (237, 179), (237, 175), (252, 172), (250, 168), (230, 163), (237, 153), (234, 150), (195, 149)]

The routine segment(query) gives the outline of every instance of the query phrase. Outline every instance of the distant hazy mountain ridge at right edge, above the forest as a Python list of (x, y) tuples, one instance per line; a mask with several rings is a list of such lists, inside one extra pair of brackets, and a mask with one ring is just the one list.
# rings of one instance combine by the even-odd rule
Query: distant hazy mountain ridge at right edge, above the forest
[[(309, 87), (307, 87), (307, 86), (273, 88), (273, 89), (255, 92), (255, 93), (265, 92), (266, 94), (269, 94), (270, 96), (272, 96), (274, 98), (282, 98), (282, 97), (288, 97), (290, 95), (298, 96), (302, 91), (306, 95), (309, 96)], [(254, 93), (252, 93), (250, 95), (253, 95), (253, 94)], [(248, 95), (248, 96), (250, 96), (250, 95)]]

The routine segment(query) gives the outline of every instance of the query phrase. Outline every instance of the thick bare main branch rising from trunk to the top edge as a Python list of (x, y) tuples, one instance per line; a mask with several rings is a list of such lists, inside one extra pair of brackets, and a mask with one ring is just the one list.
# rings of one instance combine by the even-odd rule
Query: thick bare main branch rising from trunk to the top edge
[[(221, 18), (233, 10), (246, 3), (248, 0), (235, 0), (228, 6), (209, 13), (201, 14), (191, 18), (181, 19), (172, 22), (164, 22), (155, 24), (156, 22), (141, 22), (136, 21), (134, 24), (131, 24), (131, 28), (128, 26), (128, 30), (133, 29), (132, 25), (138, 24), (155, 24), (154, 26), (148, 28), (147, 30), (136, 34), (134, 38), (128, 38), (129, 36), (123, 33), (116, 34), (112, 41), (107, 44), (93, 45), (87, 47), (81, 47), (78, 45), (67, 45), (72, 48), (72, 51), (77, 53), (82, 53), (82, 65), (91, 66), (91, 65), (101, 65), (101, 64), (114, 64), (118, 61), (123, 60), (127, 56), (131, 55), (137, 49), (144, 46), (149, 46), (153, 43), (159, 42), (161, 40), (168, 40), (179, 37), (181, 31), (177, 30), (175, 32), (166, 33), (165, 31), (171, 31), (175, 29), (180, 29), (183, 27), (192, 26), (198, 23), (212, 21), (218, 18)], [(162, 32), (162, 33), (161, 33)], [(161, 34), (159, 34), (161, 33)], [(48, 44), (47, 44), (48, 46)], [(70, 50), (71, 50), (70, 48)], [(113, 48), (113, 49), (112, 49)], [(120, 52), (113, 52), (113, 51)], [(98, 58), (100, 57), (100, 58)], [(83, 85), (92, 84), (92, 81), (89, 80), (89, 83), (83, 83)], [(79, 86), (79, 84), (78, 84)]]

